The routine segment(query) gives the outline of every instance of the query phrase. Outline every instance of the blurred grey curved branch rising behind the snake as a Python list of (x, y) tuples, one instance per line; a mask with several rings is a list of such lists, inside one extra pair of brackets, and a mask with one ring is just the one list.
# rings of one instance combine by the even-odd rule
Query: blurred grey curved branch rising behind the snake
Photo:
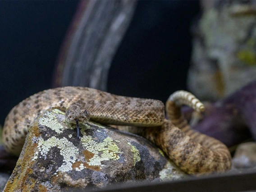
[(106, 90), (111, 61), (136, 4), (136, 0), (81, 2), (83, 9), (78, 9), (72, 32), (59, 55), (54, 87), (85, 86)]

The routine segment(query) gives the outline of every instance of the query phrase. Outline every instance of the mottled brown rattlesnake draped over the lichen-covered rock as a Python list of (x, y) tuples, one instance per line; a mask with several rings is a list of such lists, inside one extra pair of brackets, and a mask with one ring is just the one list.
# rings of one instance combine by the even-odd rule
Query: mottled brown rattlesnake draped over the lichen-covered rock
[(138, 133), (160, 146), (178, 167), (189, 174), (230, 169), (228, 148), (218, 140), (190, 129), (180, 112), (182, 104), (204, 110), (203, 104), (186, 91), (176, 91), (169, 97), (166, 112), (170, 120), (167, 120), (161, 101), (117, 96), (87, 87), (48, 89), (28, 97), (9, 112), (3, 142), (9, 153), (19, 155), (27, 130), (38, 115), (49, 108), (57, 108), (72, 118), (73, 114), (68, 110), (76, 105), (90, 112), (92, 121), (136, 126)]

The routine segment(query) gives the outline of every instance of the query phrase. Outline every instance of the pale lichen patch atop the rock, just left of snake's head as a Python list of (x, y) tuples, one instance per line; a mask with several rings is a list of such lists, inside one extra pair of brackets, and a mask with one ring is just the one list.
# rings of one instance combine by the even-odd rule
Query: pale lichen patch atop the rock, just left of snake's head
[(62, 133), (64, 127), (56, 119), (55, 115), (49, 111), (46, 111), (46, 115), (38, 119), (40, 125), (46, 126), (56, 133)]

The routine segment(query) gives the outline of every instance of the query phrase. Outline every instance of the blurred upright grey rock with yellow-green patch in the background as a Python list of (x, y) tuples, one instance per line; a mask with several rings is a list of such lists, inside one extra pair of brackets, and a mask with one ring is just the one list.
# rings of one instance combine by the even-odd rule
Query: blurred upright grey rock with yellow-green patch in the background
[(201, 100), (217, 100), (256, 79), (255, 1), (201, 2), (208, 5), (193, 27), (187, 86)]

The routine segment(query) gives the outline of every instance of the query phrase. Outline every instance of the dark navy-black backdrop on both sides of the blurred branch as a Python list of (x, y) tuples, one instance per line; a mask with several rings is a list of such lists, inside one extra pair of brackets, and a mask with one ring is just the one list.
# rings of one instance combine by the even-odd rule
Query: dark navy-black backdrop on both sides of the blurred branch
[[(0, 1), (0, 124), (14, 105), (51, 86), (79, 1)], [(139, 1), (111, 65), (108, 91), (165, 101), (186, 89), (190, 26), (199, 1)]]

